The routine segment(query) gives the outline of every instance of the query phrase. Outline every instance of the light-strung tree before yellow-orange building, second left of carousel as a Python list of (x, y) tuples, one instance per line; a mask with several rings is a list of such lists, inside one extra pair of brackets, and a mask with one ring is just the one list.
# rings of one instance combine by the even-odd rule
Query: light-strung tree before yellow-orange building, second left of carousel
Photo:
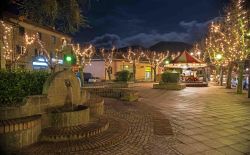
[(122, 56), (126, 61), (133, 64), (133, 79), (136, 81), (136, 64), (141, 61), (141, 58), (145, 57), (144, 52), (139, 49), (132, 51), (131, 48), (129, 48)]

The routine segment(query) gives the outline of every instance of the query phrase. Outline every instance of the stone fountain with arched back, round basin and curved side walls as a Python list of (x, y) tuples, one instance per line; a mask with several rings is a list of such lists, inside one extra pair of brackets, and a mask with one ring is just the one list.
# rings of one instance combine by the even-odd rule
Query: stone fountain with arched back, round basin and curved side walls
[(104, 101), (95, 99), (90, 104), (90, 97), (73, 72), (54, 73), (45, 82), (43, 95), (27, 97), (20, 107), (0, 108), (1, 148), (13, 152), (39, 141), (75, 140), (105, 131), (108, 121), (96, 125)]

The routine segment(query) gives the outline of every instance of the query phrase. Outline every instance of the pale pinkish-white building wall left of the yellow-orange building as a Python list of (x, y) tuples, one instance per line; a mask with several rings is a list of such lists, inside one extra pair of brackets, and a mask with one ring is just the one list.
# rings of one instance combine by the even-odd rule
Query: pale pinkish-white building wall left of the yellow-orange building
[(105, 79), (105, 65), (104, 61), (92, 60), (91, 64), (88, 64), (84, 68), (85, 73), (91, 73), (94, 77)]

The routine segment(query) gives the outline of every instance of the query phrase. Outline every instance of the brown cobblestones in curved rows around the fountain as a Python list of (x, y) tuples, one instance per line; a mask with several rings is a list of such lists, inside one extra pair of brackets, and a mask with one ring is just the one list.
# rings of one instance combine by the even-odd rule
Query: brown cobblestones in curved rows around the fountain
[(105, 99), (109, 128), (97, 136), (63, 142), (39, 142), (22, 154), (176, 155), (168, 119), (141, 102)]

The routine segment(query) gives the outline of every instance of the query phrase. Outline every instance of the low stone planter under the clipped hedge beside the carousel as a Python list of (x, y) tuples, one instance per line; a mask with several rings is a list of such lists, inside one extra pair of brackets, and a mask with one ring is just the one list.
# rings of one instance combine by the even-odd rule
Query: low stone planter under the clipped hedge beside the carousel
[(166, 89), (166, 90), (182, 90), (186, 88), (183, 83), (159, 83), (153, 85), (154, 89)]

